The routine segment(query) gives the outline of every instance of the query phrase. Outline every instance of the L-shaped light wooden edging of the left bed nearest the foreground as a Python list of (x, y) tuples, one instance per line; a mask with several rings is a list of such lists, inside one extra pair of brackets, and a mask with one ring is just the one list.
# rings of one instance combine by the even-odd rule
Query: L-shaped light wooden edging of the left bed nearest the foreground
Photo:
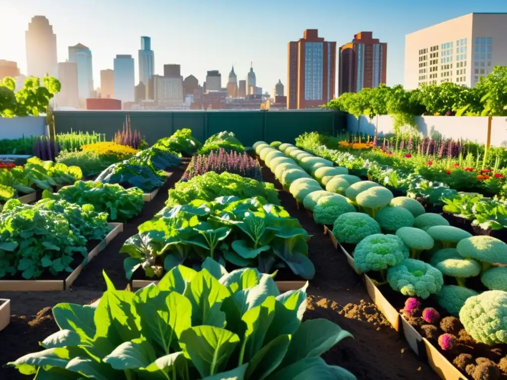
[[(113, 229), (106, 235), (106, 237), (95, 245), (94, 248), (90, 249), (88, 252), (88, 262), (90, 262), (93, 257), (98, 255), (100, 251), (102, 251), (120, 232), (123, 231), (123, 223), (108, 223), (108, 225), (112, 226)], [(93, 242), (89, 242), (93, 244)], [(72, 265), (72, 264), (71, 264)], [(42, 280), (0, 280), (0, 290), (1, 291), (56, 291), (56, 290), (68, 290), (70, 286), (77, 279), (85, 264), (80, 263), (77, 265), (76, 269), (66, 276), (64, 273), (61, 273), (57, 277), (62, 277), (61, 279), (50, 279), (50, 275), (47, 275), (48, 279)]]

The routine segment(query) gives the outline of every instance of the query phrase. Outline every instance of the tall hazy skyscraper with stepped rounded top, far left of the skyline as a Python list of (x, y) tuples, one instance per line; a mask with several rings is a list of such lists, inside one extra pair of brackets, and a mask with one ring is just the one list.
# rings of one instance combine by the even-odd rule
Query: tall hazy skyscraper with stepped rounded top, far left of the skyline
[(45, 16), (34, 16), (25, 31), (28, 76), (56, 75), (56, 34)]

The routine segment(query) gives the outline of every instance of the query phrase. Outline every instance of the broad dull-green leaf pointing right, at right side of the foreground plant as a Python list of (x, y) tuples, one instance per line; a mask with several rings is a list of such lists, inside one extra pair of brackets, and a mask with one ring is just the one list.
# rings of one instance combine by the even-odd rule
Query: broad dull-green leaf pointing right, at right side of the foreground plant
[(351, 333), (327, 319), (305, 321), (292, 337), (283, 366), (318, 357), (346, 337), (353, 338)]

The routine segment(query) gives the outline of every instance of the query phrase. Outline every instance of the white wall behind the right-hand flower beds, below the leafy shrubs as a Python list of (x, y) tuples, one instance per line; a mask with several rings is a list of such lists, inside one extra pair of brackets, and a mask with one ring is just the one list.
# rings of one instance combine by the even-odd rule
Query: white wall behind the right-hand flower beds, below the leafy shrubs
[[(468, 139), (479, 143), (486, 143), (488, 132), (488, 118), (482, 117), (453, 117), (453, 116), (416, 116), (417, 129), (423, 136), (431, 136), (438, 132), (445, 137), (453, 139)], [(347, 130), (349, 132), (366, 133), (371, 136), (378, 128), (378, 136), (383, 137), (394, 134), (392, 118), (389, 115), (381, 115), (370, 118), (361, 115), (356, 119), (353, 115), (347, 115)], [(491, 123), (491, 145), (507, 146), (507, 118), (494, 117)]]

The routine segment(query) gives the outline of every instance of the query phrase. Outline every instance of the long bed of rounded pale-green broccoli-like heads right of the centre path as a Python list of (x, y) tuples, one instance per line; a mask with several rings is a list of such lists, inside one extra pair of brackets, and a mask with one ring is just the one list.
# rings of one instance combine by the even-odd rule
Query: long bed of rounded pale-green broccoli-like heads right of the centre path
[[(383, 293), (408, 296), (404, 317), (463, 373), (474, 379), (507, 375), (507, 244), (450, 225), (426, 212), (415, 195), (394, 197), (330, 160), (292, 144), (274, 145), (254, 147), (315, 222), (332, 229), (357, 272)], [(477, 204), (472, 209), (488, 202), (477, 194), (458, 199), (465, 197)], [(462, 207), (456, 199), (446, 202)]]

